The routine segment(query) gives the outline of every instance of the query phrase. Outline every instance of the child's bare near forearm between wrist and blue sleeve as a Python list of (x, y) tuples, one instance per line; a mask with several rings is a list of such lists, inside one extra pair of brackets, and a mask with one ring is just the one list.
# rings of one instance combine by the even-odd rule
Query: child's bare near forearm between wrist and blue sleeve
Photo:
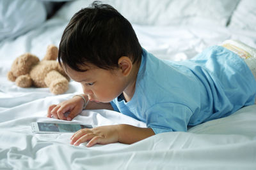
[(118, 142), (125, 144), (136, 143), (155, 134), (151, 128), (135, 127), (126, 124), (117, 125), (117, 131)]

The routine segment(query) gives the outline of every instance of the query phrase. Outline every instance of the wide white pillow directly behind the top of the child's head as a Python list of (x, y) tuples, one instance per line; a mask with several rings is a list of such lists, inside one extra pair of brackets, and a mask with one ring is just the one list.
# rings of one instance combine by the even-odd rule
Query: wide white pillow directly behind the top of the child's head
[[(58, 17), (70, 20), (81, 8), (93, 1), (74, 1), (65, 4)], [(141, 25), (227, 25), (239, 0), (105, 0), (131, 23)]]

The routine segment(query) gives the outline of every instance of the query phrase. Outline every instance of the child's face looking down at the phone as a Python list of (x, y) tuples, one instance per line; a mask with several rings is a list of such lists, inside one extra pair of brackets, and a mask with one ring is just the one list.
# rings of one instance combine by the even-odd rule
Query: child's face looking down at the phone
[(84, 94), (90, 101), (109, 103), (125, 89), (125, 79), (121, 69), (109, 71), (99, 67), (83, 67), (85, 72), (74, 71), (67, 67), (66, 72), (72, 80), (81, 83)]

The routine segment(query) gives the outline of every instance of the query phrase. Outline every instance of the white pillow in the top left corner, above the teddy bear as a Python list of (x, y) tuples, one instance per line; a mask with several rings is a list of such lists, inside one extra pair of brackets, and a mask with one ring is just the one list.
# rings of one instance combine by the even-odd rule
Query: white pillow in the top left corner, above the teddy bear
[(15, 38), (46, 19), (44, 4), (35, 0), (0, 1), (0, 41)]

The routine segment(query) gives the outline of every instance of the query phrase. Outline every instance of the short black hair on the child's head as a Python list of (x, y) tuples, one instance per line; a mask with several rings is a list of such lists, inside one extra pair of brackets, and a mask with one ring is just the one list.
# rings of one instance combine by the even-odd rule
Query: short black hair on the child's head
[(135, 63), (141, 54), (130, 22), (109, 4), (95, 1), (71, 18), (61, 37), (58, 61), (81, 72), (88, 64), (111, 70), (118, 67), (120, 57)]

